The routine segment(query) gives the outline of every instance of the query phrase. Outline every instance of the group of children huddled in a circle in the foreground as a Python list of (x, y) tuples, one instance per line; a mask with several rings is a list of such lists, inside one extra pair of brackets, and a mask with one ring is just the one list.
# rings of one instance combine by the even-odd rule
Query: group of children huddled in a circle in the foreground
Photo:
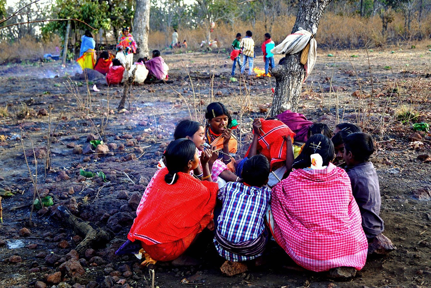
[(332, 135), (286, 111), (255, 119), (246, 157), (235, 160), (236, 121), (219, 102), (205, 117), (205, 127), (178, 122), (117, 254), (145, 257), (143, 264), (174, 260), (208, 228), (226, 260), (262, 256), (273, 236), (306, 269), (362, 269), (368, 243), (384, 230), (370, 135), (350, 123)]

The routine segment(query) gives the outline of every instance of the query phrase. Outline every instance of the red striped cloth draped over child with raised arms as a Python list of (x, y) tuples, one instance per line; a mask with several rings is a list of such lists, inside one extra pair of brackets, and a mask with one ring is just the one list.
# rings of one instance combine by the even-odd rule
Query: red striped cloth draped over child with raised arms
[[(265, 120), (260, 118), (260, 122), (262, 123), (263, 132), (260, 131), (259, 134), (257, 151), (268, 158), (272, 171), (280, 167), (277, 164), (286, 161), (287, 147), (283, 136), (290, 136), (293, 141), (295, 133), (279, 120)], [(245, 157), (248, 156), (249, 152), (250, 147)]]

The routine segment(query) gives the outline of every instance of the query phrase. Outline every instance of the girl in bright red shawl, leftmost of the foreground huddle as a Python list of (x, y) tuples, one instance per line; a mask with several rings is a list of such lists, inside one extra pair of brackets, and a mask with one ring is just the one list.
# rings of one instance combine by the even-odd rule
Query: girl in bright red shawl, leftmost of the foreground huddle
[(206, 180), (200, 181), (190, 175), (199, 165), (193, 141), (181, 138), (168, 145), (166, 167), (154, 174), (145, 189), (128, 241), (117, 250), (117, 255), (138, 254), (141, 246), (139, 253), (146, 258), (142, 265), (174, 260), (203, 229), (214, 229), (212, 218), (218, 185), (212, 182), (209, 172), (211, 157), (211, 150), (200, 155), (202, 180)]

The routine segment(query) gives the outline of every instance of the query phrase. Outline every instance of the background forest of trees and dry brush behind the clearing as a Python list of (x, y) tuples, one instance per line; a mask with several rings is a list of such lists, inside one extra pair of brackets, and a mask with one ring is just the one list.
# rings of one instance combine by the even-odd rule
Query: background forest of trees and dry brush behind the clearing
[[(7, 17), (28, 3), (31, 0), (7, 7), (6, 1), (0, 0), (0, 15)], [(135, 5), (133, 0), (39, 1), (22, 10), (34, 12), (14, 17), (7, 24), (78, 18), (99, 29), (95, 40), (100, 48), (109, 47), (123, 26), (130, 26), (133, 34)], [(297, 0), (151, 0), (149, 48), (167, 48), (173, 29), (178, 30), (178, 41), (187, 40), (187, 50), (198, 50), (201, 42), (209, 39), (217, 40), (219, 48), (229, 48), (235, 34), (246, 30), (253, 31), (257, 47), (265, 32), (279, 43), (290, 34), (297, 5)], [(319, 25), (318, 48), (402, 46), (429, 39), (430, 10), (431, 0), (333, 0)], [(66, 24), (28, 23), (0, 29), (0, 59), (19, 62), (61, 51)], [(84, 29), (83, 24), (72, 22), (69, 58), (79, 50)]]

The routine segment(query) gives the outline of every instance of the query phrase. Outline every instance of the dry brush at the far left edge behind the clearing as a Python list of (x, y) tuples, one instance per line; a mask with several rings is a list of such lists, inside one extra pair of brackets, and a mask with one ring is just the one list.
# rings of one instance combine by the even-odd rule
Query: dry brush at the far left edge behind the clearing
[(0, 60), (20, 62), (40, 59), (46, 53), (55, 54), (56, 47), (61, 47), (61, 39), (57, 35), (41, 41), (26, 35), (13, 43), (0, 42)]

